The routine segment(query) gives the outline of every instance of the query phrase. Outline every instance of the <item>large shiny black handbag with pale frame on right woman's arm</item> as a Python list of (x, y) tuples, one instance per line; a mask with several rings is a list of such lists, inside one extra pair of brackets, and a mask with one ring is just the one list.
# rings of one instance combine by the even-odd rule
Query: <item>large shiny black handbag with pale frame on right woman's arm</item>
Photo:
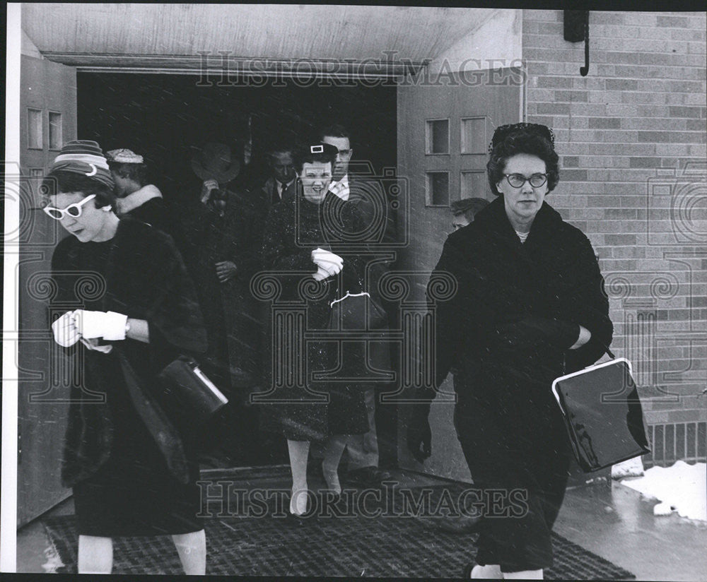
[(552, 383), (572, 451), (585, 473), (650, 453), (631, 372), (629, 360), (614, 358)]

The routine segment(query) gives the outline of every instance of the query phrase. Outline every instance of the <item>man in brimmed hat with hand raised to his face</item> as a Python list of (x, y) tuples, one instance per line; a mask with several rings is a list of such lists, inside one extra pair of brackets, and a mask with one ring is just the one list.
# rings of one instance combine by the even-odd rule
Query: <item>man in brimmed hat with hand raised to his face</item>
[(209, 333), (206, 372), (230, 400), (215, 440), (228, 456), (246, 453), (252, 458), (241, 457), (241, 461), (256, 461), (257, 418), (246, 413), (242, 403), (255, 388), (259, 369), (262, 323), (260, 305), (250, 293), (250, 278), (259, 270), (267, 207), (233, 186), (240, 161), (228, 145), (206, 143), (195, 150), (191, 164), (201, 180), (201, 191), (198, 200), (181, 213), (188, 239), (185, 261), (197, 282)]

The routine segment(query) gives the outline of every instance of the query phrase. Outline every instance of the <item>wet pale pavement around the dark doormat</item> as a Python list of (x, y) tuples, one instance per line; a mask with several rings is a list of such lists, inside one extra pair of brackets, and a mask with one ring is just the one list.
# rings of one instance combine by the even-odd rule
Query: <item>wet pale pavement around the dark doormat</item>
[[(286, 468), (279, 475), (267, 470), (237, 470), (239, 480), (259, 487), (289, 485)], [(438, 485), (440, 481), (409, 471), (392, 471), (403, 486)], [(202, 477), (225, 477), (228, 471), (205, 471)], [(631, 571), (637, 580), (703, 581), (707, 579), (707, 523), (672, 516), (653, 516), (655, 500), (617, 482), (599, 482), (568, 489), (555, 531), (568, 540)], [(49, 512), (73, 513), (67, 499)], [(293, 535), (297, 535), (293, 531)], [(18, 531), (18, 572), (51, 572), (61, 565), (47, 540), (41, 520)]]

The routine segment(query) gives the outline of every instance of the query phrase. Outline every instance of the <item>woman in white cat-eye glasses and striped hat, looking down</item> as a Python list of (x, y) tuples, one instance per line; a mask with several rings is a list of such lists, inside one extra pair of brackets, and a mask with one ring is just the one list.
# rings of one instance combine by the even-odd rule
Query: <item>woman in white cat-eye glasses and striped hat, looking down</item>
[(112, 570), (112, 538), (171, 534), (187, 574), (205, 573), (199, 468), (158, 403), (157, 374), (203, 352), (206, 331), (173, 240), (124, 218), (98, 143), (67, 143), (42, 184), (70, 236), (52, 256), (52, 332), (72, 367), (62, 482), (72, 487), (78, 573)]

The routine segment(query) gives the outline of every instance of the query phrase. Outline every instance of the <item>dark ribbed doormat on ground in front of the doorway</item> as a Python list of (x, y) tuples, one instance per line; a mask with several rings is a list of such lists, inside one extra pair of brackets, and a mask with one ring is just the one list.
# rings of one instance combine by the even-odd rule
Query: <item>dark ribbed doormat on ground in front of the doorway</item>
[[(450, 487), (425, 490), (431, 490), (428, 499), (434, 501), (443, 497), (443, 492), (448, 494)], [(346, 507), (338, 516), (320, 513), (316, 519), (306, 519), (305, 525), (291, 524), (283, 517), (281, 506), (277, 509), (272, 504), (263, 511), (266, 504), (260, 503), (259, 517), (248, 516), (243, 504), (240, 516), (219, 517), (212, 510), (214, 515), (204, 520), (206, 574), (458, 578), (476, 555), (477, 535), (448, 533), (431, 526), (434, 519), (406, 511), (421, 507), (419, 495), (411, 499), (411, 504), (401, 504), (400, 498), (393, 500), (390, 511), (384, 509), (383, 513), (378, 512), (380, 503), (378, 508), (375, 503), (366, 506), (365, 515), (349, 514)], [(342, 497), (340, 501), (346, 505), (351, 499)], [(78, 536), (74, 516), (47, 518), (44, 525), (64, 564), (57, 572), (75, 574)], [(547, 579), (636, 578), (561, 535), (553, 533), (552, 542), (554, 565), (545, 571)], [(183, 574), (169, 536), (115, 538), (113, 556), (114, 574)]]

